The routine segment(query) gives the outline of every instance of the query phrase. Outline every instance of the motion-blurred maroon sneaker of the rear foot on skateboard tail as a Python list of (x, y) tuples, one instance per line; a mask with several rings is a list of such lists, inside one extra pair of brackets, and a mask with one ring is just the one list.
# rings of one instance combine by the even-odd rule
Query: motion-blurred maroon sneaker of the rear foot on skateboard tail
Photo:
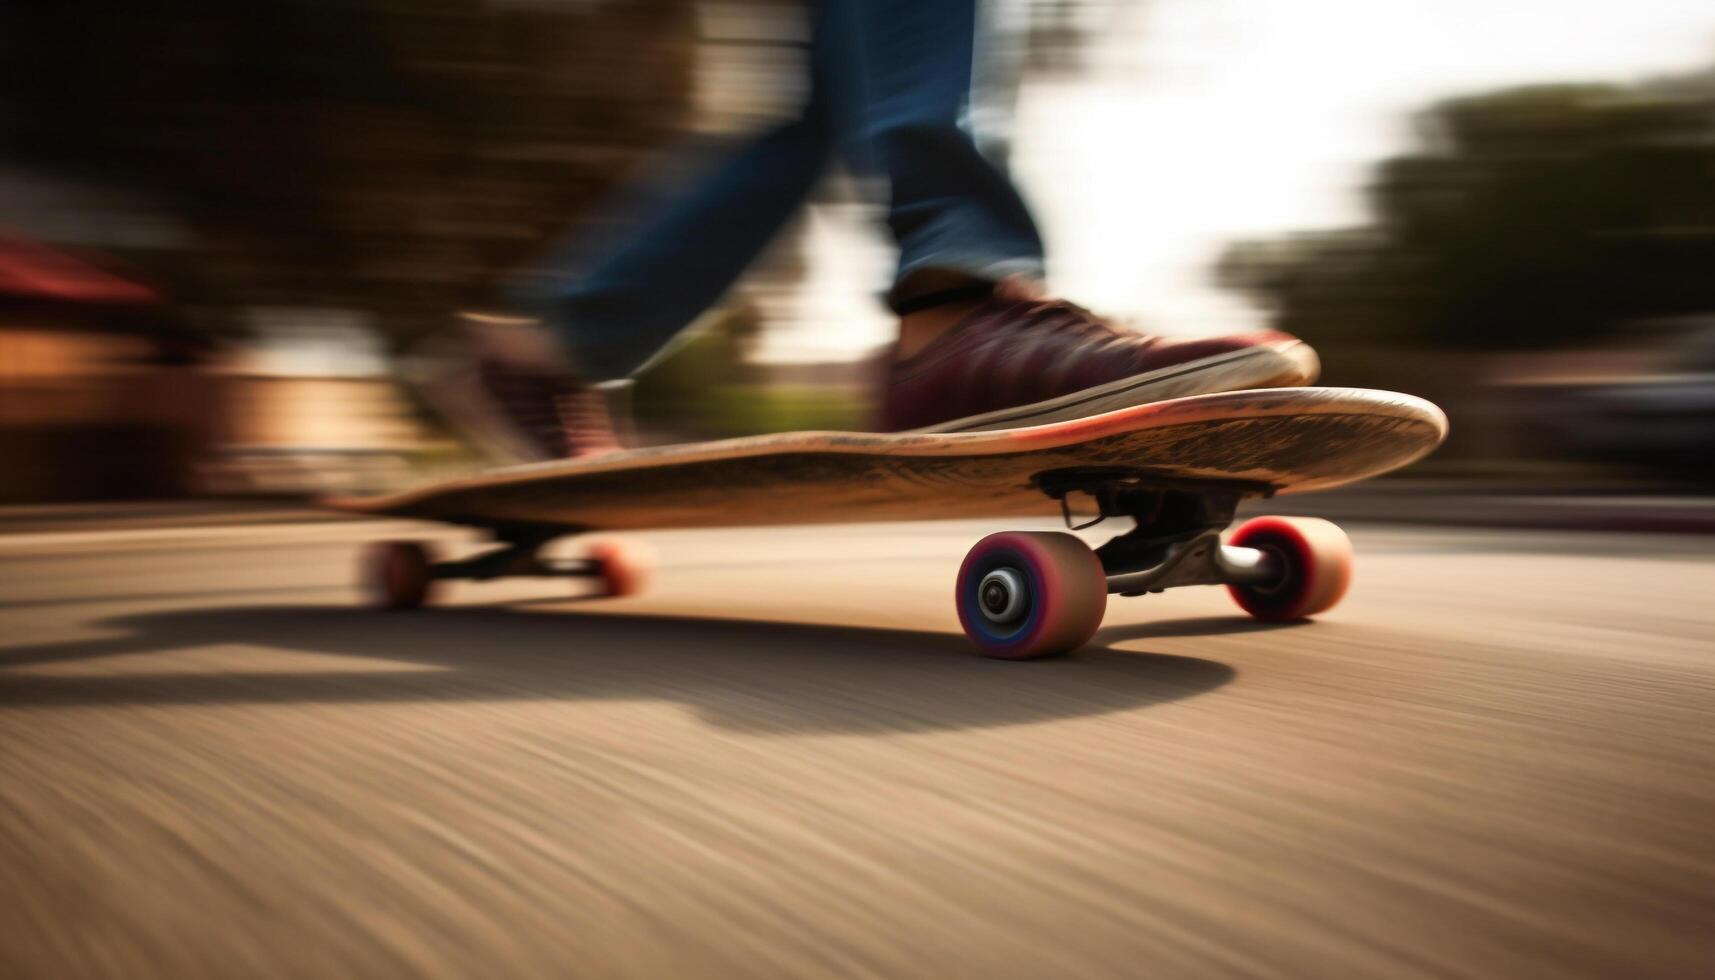
[(466, 318), (468, 359), (425, 386), (427, 398), (478, 450), (509, 462), (621, 448), (609, 396), (545, 352), (530, 321)]

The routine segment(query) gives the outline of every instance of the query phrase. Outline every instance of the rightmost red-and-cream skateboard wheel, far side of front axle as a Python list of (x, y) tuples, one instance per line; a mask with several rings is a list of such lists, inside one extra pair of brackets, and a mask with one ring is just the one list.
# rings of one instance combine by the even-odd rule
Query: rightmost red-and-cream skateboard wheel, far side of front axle
[(1255, 547), (1279, 563), (1266, 584), (1230, 584), (1233, 601), (1257, 620), (1303, 620), (1333, 609), (1351, 585), (1351, 539), (1314, 517), (1247, 520), (1230, 544)]

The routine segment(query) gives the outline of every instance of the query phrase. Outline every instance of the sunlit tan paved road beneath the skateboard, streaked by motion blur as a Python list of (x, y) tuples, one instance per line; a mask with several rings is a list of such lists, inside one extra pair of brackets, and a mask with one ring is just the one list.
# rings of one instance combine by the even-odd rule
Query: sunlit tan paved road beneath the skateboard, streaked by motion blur
[(1319, 623), (1012, 664), (978, 527), (425, 614), (353, 608), (374, 532), (0, 537), (0, 975), (1715, 970), (1706, 539), (1360, 529)]

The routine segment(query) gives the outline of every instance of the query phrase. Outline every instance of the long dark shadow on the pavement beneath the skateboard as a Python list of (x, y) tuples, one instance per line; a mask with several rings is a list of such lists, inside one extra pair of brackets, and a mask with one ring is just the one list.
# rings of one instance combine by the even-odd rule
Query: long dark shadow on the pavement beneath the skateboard
[[(182, 609), (96, 623), (123, 635), (0, 652), (0, 707), (665, 700), (746, 733), (900, 733), (1032, 724), (1134, 711), (1214, 690), (1235, 673), (1182, 656), (1084, 649), (988, 661), (936, 632), (453, 608), (415, 614), (345, 606)], [(249, 644), (394, 661), (206, 673), (33, 673), (91, 657)], [(142, 666), (142, 664), (135, 664)]]

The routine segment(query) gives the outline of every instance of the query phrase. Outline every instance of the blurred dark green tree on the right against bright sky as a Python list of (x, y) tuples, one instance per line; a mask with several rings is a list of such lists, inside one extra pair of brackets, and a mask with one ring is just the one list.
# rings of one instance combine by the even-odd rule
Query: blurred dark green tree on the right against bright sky
[(1715, 311), (1708, 84), (1456, 98), (1418, 136), (1375, 168), (1372, 225), (1235, 244), (1218, 281), (1327, 348), (1549, 347)]

